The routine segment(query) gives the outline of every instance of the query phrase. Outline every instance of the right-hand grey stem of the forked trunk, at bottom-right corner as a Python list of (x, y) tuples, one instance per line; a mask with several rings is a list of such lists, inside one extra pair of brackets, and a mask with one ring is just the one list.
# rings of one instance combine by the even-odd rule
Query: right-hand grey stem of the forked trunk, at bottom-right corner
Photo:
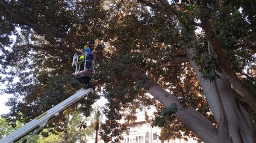
[(229, 138), (233, 142), (256, 142), (255, 129), (251, 118), (234, 98), (231, 84), (223, 74), (216, 81), (220, 99), (228, 119)]

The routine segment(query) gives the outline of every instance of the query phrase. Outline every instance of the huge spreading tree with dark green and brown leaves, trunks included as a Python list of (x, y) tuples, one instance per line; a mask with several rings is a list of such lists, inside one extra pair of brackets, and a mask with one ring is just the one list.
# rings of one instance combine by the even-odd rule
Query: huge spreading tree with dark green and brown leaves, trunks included
[[(119, 142), (136, 109), (151, 106), (160, 139), (256, 142), (255, 14), (252, 0), (0, 0), (1, 92), (14, 95), (3, 117), (26, 123), (83, 87), (71, 62), (90, 43), (92, 84), (108, 100), (105, 142)], [(81, 101), (84, 115), (97, 99)]]

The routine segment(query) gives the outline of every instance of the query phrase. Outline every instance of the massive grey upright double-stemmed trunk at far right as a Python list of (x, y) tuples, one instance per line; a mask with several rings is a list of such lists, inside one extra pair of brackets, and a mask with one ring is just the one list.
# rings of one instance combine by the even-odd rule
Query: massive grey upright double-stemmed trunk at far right
[[(195, 37), (195, 32), (190, 31)], [(196, 37), (195, 37), (196, 38)], [(196, 47), (196, 42), (193, 43)], [(187, 56), (198, 76), (207, 103), (219, 124), (218, 142), (255, 142), (255, 130), (251, 118), (242, 106), (237, 105), (230, 82), (223, 74), (220, 79), (209, 82), (202, 79), (199, 67), (192, 61), (194, 48), (187, 49)]]

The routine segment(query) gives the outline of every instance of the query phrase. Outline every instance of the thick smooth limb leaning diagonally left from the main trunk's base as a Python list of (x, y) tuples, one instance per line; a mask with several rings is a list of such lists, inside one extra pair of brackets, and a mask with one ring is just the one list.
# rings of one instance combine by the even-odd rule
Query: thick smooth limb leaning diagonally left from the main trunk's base
[[(129, 67), (128, 65), (126, 65), (126, 73), (136, 82), (146, 78), (143, 73), (140, 73), (140, 71), (133, 67)], [(166, 108), (168, 108), (171, 103), (176, 103), (178, 108), (176, 117), (178, 117), (178, 119), (185, 127), (187, 127), (187, 129), (192, 130), (204, 142), (217, 142), (218, 131), (206, 117), (190, 106), (178, 102), (175, 96), (159, 87), (152, 80), (147, 81), (145, 83), (145, 87), (149, 88), (149, 93), (159, 102), (161, 102)]]

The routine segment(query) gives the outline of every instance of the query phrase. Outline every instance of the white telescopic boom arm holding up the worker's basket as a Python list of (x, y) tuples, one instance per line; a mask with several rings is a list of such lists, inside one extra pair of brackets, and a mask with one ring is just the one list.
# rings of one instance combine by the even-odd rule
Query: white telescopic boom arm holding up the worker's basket
[(39, 117), (35, 118), (34, 120), (15, 130), (10, 135), (1, 139), (0, 143), (13, 143), (19, 141), (19, 139), (23, 138), (23, 136), (27, 135), (30, 132), (33, 132), (33, 130), (37, 129), (38, 127), (42, 128), (43, 126), (45, 126), (46, 123), (49, 120), (51, 120), (51, 118), (56, 117), (60, 112), (63, 112), (64, 110), (66, 110), (67, 108), (69, 108), (70, 106), (78, 102), (80, 99), (83, 99), (83, 97), (87, 96), (92, 92), (92, 88), (88, 88), (86, 90), (81, 88), (80, 90), (76, 91), (76, 93), (73, 94), (73, 96), (70, 96), (68, 99), (64, 100), (63, 102), (49, 109)]

